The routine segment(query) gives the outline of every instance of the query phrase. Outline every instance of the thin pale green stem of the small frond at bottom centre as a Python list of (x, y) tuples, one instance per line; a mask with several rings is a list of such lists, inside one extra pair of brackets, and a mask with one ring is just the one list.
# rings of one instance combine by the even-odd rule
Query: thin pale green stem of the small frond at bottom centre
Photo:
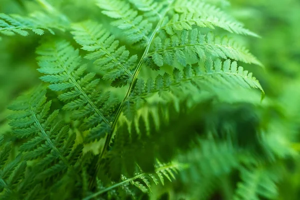
[[(172, 167), (174, 167), (174, 166), (177, 166), (177, 167), (178, 167), (178, 163), (175, 163), (175, 164), (174, 164), (174, 163), (171, 163), (171, 164), (167, 164), (167, 165), (164, 165), (164, 166), (160, 166), (160, 167), (158, 167), (158, 168), (155, 169), (155, 173), (157, 173), (157, 172), (159, 172), (159, 171), (163, 171), (163, 170), (165, 170), (165, 169), (172, 168)], [(106, 192), (106, 191), (109, 191), (110, 189), (113, 189), (113, 188), (115, 188), (115, 187), (121, 186), (121, 185), (123, 185), (123, 184), (125, 184), (125, 183), (127, 183), (127, 182), (130, 182), (130, 181), (132, 181), (132, 180), (135, 180), (135, 179), (137, 179), (137, 178), (139, 178), (139, 177), (141, 177), (141, 176), (145, 176), (145, 175), (147, 175), (147, 173), (140, 173), (140, 174), (135, 175), (135, 176), (133, 176), (133, 177), (131, 177), (131, 178), (128, 178), (128, 179), (126, 179), (126, 180), (123, 180), (123, 181), (121, 181), (121, 182), (118, 182), (118, 183), (116, 183), (116, 184), (113, 184), (113, 185), (111, 185), (111, 186), (109, 186), (109, 187), (106, 187), (106, 188), (104, 188), (104, 189), (101, 189), (100, 191), (97, 191), (97, 192), (95, 192), (95, 193), (93, 193), (93, 194), (90, 194), (90, 195), (88, 195), (88, 196), (82, 198), (82, 200), (89, 200), (89, 199), (91, 199), (91, 198), (94, 198), (94, 197), (96, 197), (96, 196), (98, 196), (98, 195), (100, 195), (100, 194)]]

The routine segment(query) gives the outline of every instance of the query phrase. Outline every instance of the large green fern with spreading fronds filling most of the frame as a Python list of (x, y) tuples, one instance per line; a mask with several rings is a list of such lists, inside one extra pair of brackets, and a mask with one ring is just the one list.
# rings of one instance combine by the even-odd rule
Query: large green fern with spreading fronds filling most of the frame
[(240, 38), (259, 36), (227, 4), (36, 0), (0, 14), (2, 34), (56, 34), (36, 37), (42, 85), (9, 106), (1, 199), (275, 199), (271, 166), (296, 152), (247, 70), (263, 64)]

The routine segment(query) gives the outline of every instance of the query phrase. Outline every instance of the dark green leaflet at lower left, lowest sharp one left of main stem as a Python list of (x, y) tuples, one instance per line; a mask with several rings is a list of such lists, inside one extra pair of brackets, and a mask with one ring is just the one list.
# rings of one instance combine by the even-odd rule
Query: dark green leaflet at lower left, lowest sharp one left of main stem
[[(22, 107), (18, 105), (22, 105)], [(62, 126), (59, 122), (56, 122), (58, 116), (57, 110), (54, 110), (51, 114), (48, 113), (50, 105), (51, 101), (46, 101), (45, 89), (38, 87), (37, 89), (20, 96), (9, 107), (10, 109), (15, 110), (17, 116), (16, 118), (13, 117), (14, 114), (11, 114), (10, 116), (10, 125), (12, 126), (15, 136), (28, 138), (28, 141), (23, 143), (19, 148), (20, 150), (23, 150), (23, 157), (26, 160), (39, 159), (40, 165), (37, 164), (37, 168), (35, 169), (35, 173), (38, 172), (38, 175), (35, 174), (36, 178), (46, 178), (48, 177), (47, 175), (54, 174), (48, 172), (53, 171), (53, 167), (55, 168), (55, 160), (58, 160), (61, 165), (60, 168), (56, 167), (57, 170), (55, 171), (57, 173), (68, 168), (75, 174), (72, 163), (70, 163), (70, 160), (68, 159), (70, 148), (72, 148), (74, 144), (75, 137), (74, 135), (68, 135), (69, 128), (67, 126)], [(20, 127), (20, 125), (17, 124), (17, 121), (20, 120), (18, 112), (27, 112), (28, 114), (26, 115), (30, 115), (33, 121), (29, 120), (30, 123), (26, 124), (24, 127)], [(23, 119), (30, 118), (25, 117)], [(81, 152), (77, 153), (77, 156), (79, 156)], [(51, 165), (50, 163), (53, 162), (54, 165)], [(14, 162), (10, 162), (5, 166), (3, 177), (16, 167), (13, 163)], [(37, 179), (37, 181), (38, 180), (39, 179)]]

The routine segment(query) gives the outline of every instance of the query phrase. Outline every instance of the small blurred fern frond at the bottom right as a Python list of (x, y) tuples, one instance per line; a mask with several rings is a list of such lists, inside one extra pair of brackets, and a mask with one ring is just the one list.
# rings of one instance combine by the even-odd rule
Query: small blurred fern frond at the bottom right
[(234, 200), (258, 200), (261, 197), (275, 199), (278, 195), (276, 182), (278, 177), (270, 168), (258, 166), (257, 168), (240, 170), (242, 182), (237, 183)]

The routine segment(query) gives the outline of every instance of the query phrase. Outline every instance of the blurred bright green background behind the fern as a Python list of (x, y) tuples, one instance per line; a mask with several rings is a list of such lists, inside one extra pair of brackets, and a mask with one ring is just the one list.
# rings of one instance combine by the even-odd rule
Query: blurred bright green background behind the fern
[[(97, 16), (97, 8), (86, 3), (92, 0), (49, 1), (72, 21), (88, 18), (84, 10), (89, 10), (91, 17)], [(242, 41), (263, 63), (264, 69), (253, 65), (245, 68), (260, 81), (266, 94), (264, 100), (270, 102), (272, 109), (282, 112), (278, 117), (272, 109), (267, 110), (265, 120), (280, 124), (277, 131), (281, 131), (281, 136), (293, 148), (300, 150), (300, 0), (215, 1), (261, 36), (259, 39), (242, 37)], [(69, 9), (73, 5), (81, 11)], [(26, 15), (39, 6), (34, 0), (0, 0), (0, 12), (4, 13)], [(0, 133), (3, 134), (9, 131), (6, 106), (22, 91), (40, 83), (34, 51), (44, 35), (0, 36)], [(284, 174), (279, 187), (280, 199), (300, 199), (300, 161), (292, 166), (293, 170)]]

